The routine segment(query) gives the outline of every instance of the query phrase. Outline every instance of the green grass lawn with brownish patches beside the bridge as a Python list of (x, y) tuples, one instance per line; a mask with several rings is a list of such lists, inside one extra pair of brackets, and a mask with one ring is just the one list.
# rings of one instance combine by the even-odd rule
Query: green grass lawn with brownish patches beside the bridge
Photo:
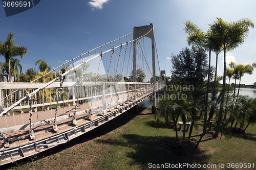
[[(192, 142), (187, 141), (185, 152), (182, 152), (181, 142), (175, 141), (174, 129), (157, 124), (150, 109), (139, 108), (139, 112), (127, 111), (69, 143), (0, 168), (150, 169), (157, 164), (172, 167), (179, 163), (191, 165), (191, 168), (184, 169), (197, 169), (192, 168), (195, 164), (216, 164), (216, 168), (201, 169), (253, 169), (235, 168), (235, 163), (254, 163), (256, 168), (256, 126), (249, 126), (246, 134), (232, 134), (228, 140), (205, 135), (195, 150), (202, 124), (200, 121), (199, 129), (191, 135)], [(178, 131), (180, 139), (182, 133)], [(234, 163), (234, 168), (231, 163)], [(225, 168), (220, 168), (220, 164)]]

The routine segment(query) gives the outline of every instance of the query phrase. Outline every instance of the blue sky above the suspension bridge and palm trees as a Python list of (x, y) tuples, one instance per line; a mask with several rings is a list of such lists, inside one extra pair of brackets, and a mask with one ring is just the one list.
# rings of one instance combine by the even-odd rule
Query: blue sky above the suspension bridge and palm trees
[[(18, 59), (27, 68), (36, 67), (35, 60), (45, 59), (51, 68), (133, 31), (134, 27), (153, 23), (160, 67), (170, 76), (171, 54), (188, 46), (184, 32), (185, 20), (196, 23), (203, 31), (221, 17), (237, 21), (243, 17), (256, 21), (256, 1), (227, 0), (43, 0), (35, 7), (6, 17), (0, 7), (0, 39), (9, 32), (15, 44), (28, 47), (28, 54)], [(250, 29), (244, 44), (227, 53), (227, 62), (256, 62), (256, 28)], [(218, 75), (223, 75), (223, 53), (219, 55)], [(211, 65), (215, 65), (212, 54)], [(5, 62), (4, 57), (0, 57)], [(254, 74), (245, 75), (241, 83), (253, 84)]]

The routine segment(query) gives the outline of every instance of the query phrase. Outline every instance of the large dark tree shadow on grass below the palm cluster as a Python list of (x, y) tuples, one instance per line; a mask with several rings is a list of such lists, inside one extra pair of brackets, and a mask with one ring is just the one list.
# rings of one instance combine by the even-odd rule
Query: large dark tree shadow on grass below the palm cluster
[[(210, 155), (205, 155), (202, 148), (195, 149), (196, 143), (190, 140), (185, 141), (185, 151), (182, 151), (181, 141), (177, 142), (175, 137), (124, 134), (122, 138), (99, 139), (97, 142), (132, 148), (133, 151), (127, 151), (125, 155), (126, 157), (132, 158), (131, 165), (139, 164), (142, 169), (148, 169), (150, 163), (164, 165), (167, 163), (168, 168), (172, 168), (172, 165), (182, 163), (203, 165), (211, 157)], [(184, 169), (187, 168), (184, 167)]]

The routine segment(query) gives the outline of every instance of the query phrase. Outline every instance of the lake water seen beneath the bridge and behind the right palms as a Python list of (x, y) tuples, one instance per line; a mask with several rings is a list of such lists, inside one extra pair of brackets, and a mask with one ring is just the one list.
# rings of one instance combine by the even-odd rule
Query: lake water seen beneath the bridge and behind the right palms
[[(238, 88), (236, 88), (236, 93), (238, 92)], [(240, 88), (239, 94), (247, 95), (250, 98), (256, 98), (256, 88)], [(144, 101), (138, 104), (139, 107), (152, 107), (152, 101), (150, 98), (145, 99)], [(158, 99), (158, 98), (157, 98)], [(156, 105), (158, 106), (158, 100), (156, 100)]]

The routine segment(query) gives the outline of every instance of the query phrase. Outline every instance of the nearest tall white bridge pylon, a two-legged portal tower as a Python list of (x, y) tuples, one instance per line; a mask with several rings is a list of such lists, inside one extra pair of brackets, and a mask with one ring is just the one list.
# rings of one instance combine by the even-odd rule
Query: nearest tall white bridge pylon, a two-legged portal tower
[[(148, 34), (147, 34), (148, 33)], [(146, 35), (145, 35), (146, 34)], [(136, 65), (136, 55), (137, 55), (137, 41), (136, 39), (145, 35), (145, 37), (151, 38), (152, 40), (152, 75), (153, 75), (153, 90), (152, 90), (152, 113), (156, 113), (156, 58), (155, 58), (155, 36), (154, 27), (150, 23), (148, 26), (134, 27), (133, 28), (133, 39), (135, 40), (133, 46), (133, 81), (137, 82), (137, 65)], [(136, 92), (136, 85), (134, 85)], [(136, 96), (136, 94), (135, 94)]]

